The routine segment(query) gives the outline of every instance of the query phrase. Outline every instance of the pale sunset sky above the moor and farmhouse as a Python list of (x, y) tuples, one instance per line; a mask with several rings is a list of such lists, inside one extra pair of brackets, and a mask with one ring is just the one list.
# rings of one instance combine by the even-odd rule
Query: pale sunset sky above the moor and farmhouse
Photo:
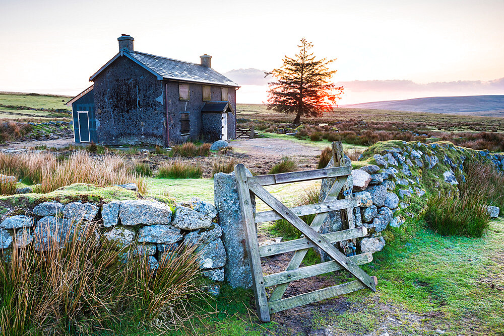
[(302, 37), (337, 58), (340, 104), (429, 96), (504, 95), (504, 0), (0, 0), (0, 91), (76, 95), (118, 51), (212, 67), (267, 99), (264, 71)]

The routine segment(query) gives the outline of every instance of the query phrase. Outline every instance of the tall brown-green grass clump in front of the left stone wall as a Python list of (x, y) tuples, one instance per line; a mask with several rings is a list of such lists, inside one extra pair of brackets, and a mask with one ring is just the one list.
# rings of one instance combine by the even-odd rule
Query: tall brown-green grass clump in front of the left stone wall
[(196, 317), (193, 305), (202, 296), (196, 246), (174, 247), (154, 270), (136, 244), (97, 243), (96, 228), (76, 224), (61, 241), (39, 235), (34, 243), (44, 253), (26, 243), (28, 236), (15, 238), (9, 261), (0, 261), (3, 335), (101, 334), (121, 320), (139, 326), (159, 318), (153, 329), (163, 333)]

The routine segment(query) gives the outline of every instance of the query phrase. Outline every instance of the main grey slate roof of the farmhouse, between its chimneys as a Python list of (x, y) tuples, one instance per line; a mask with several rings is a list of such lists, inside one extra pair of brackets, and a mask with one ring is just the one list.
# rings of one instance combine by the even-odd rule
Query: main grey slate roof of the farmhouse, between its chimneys
[(127, 56), (136, 63), (147, 68), (158, 76), (159, 79), (174, 79), (182, 81), (193, 81), (198, 83), (224, 85), (239, 87), (234, 81), (220, 74), (212, 68), (198, 64), (180, 61), (178, 59), (167, 58), (146, 54), (139, 51), (121, 50), (114, 58), (105, 64), (100, 70), (91, 76), (90, 80), (104, 70), (112, 61), (119, 56)]

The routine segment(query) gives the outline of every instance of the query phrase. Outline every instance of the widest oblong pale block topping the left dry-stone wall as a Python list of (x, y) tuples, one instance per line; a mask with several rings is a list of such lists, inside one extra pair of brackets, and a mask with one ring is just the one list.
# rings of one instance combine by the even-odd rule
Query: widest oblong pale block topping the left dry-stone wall
[(119, 207), (121, 224), (128, 226), (169, 224), (171, 215), (169, 206), (156, 201), (128, 200), (122, 201)]

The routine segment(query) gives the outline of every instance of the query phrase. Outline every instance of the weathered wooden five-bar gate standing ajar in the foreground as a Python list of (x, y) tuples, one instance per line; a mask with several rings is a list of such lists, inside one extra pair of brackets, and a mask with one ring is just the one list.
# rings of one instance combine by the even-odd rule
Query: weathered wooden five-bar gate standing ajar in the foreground
[[(235, 166), (234, 172), (238, 183), (238, 196), (244, 220), (243, 224), (246, 232), (247, 247), (249, 250), (256, 307), (259, 318), (263, 322), (270, 321), (270, 313), (321, 301), (363, 288), (369, 288), (372, 291), (376, 290), (376, 277), (370, 277), (357, 266), (370, 262), (372, 260), (372, 255), (361, 254), (346, 257), (338, 248), (333, 246), (334, 243), (340, 242), (340, 248), (342, 248), (344, 247), (345, 241), (365, 236), (367, 230), (365, 227), (356, 228), (354, 223), (353, 208), (358, 207), (361, 204), (361, 200), (352, 197), (347, 183), (347, 177), (351, 174), (352, 167), (344, 165), (344, 154), (341, 142), (333, 142), (332, 148), (334, 165), (327, 169), (247, 177), (243, 164), (237, 164)], [(294, 208), (287, 208), (282, 202), (277, 200), (263, 188), (264, 186), (281, 183), (327, 178), (336, 178), (336, 181), (323, 202)], [(254, 193), (273, 210), (258, 212), (254, 215), (250, 192)], [(334, 210), (341, 210), (342, 219), (346, 222), (347, 229), (326, 234), (318, 233), (328, 212)], [(316, 214), (311, 225), (307, 225), (299, 218), (299, 216), (307, 214)], [(304, 237), (271, 245), (259, 246), (256, 224), (281, 218), (286, 219), (289, 223), (294, 225), (303, 233)], [(315, 246), (325, 251), (333, 260), (299, 268), (308, 249)], [(295, 253), (284, 272), (266, 276), (263, 275), (261, 257), (273, 256), (290, 251), (295, 251)], [(282, 299), (291, 281), (338, 270), (347, 270), (355, 276), (357, 280)], [(268, 299), (266, 287), (271, 286), (276, 287)]]

